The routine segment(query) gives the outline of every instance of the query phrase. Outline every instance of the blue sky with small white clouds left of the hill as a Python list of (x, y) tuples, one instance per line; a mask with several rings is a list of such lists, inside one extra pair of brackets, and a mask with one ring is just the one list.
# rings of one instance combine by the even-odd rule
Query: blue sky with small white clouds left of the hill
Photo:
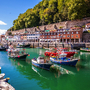
[(33, 8), (42, 0), (0, 0), (0, 35), (13, 26), (19, 14)]

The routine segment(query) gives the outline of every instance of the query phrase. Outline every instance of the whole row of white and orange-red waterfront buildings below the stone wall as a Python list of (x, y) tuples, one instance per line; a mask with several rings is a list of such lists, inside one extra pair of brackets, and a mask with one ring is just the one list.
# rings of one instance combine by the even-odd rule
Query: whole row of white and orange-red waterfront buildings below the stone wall
[(63, 43), (76, 43), (82, 42), (83, 30), (81, 27), (55, 28), (50, 30), (45, 27), (42, 29), (25, 28), (17, 33), (13, 33), (11, 41), (28, 41), (28, 42), (63, 42)]

